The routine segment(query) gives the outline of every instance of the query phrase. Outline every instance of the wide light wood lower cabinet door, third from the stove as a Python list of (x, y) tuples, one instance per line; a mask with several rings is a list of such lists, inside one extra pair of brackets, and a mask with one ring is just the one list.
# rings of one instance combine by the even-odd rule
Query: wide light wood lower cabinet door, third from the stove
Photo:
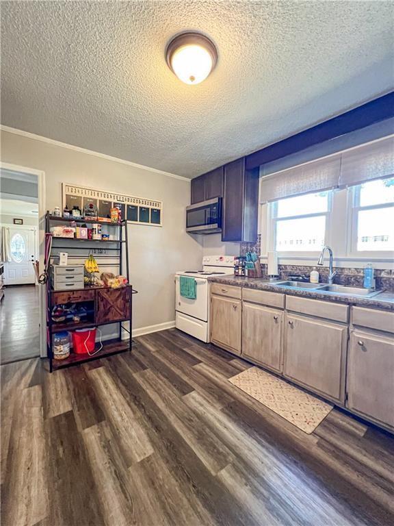
[(284, 375), (341, 403), (346, 347), (346, 325), (286, 314)]

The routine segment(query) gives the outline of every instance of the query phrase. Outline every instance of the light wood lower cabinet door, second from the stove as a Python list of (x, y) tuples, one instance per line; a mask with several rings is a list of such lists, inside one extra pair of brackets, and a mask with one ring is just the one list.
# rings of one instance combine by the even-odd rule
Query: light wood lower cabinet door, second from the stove
[(276, 373), (283, 370), (284, 318), (281, 310), (244, 302), (242, 354)]

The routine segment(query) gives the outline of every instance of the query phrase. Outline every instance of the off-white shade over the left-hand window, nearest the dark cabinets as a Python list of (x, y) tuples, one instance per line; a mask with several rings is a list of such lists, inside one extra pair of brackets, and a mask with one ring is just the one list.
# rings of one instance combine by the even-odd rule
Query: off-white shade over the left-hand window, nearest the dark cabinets
[(337, 188), (341, 155), (319, 159), (261, 178), (261, 203)]

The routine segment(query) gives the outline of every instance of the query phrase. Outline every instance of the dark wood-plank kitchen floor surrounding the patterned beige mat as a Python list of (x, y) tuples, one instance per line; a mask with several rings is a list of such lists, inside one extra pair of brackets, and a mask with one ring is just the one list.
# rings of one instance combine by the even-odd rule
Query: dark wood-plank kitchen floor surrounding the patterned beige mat
[(1, 366), (3, 526), (393, 525), (394, 438), (333, 410), (304, 434), (176, 329), (132, 353)]

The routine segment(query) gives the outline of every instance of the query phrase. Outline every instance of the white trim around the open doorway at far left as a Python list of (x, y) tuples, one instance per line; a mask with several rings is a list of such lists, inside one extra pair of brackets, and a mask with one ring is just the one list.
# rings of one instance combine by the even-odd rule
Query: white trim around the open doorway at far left
[[(37, 170), (36, 168), (28, 168), (27, 166), (19, 166), (18, 164), (10, 164), (8, 162), (0, 161), (0, 168), (20, 173), (28, 173), (29, 175), (37, 176), (38, 184), (38, 253), (40, 260), (40, 269), (44, 268), (44, 247), (45, 247), (45, 172)], [(38, 285), (38, 292), (40, 297), (40, 357), (47, 356), (47, 317), (45, 315), (46, 309), (46, 294), (45, 287)]]

